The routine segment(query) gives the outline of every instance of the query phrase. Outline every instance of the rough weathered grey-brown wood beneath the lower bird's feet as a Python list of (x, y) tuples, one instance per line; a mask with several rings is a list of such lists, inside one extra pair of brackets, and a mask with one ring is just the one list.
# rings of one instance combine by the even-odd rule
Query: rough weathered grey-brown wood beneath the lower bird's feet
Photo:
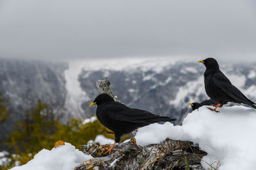
[[(76, 167), (85, 169), (204, 169), (200, 158), (206, 155), (198, 146), (188, 141), (165, 139), (163, 143), (140, 146), (133, 139), (115, 146), (110, 155), (104, 155), (105, 147), (95, 143), (81, 146), (90, 159)], [(189, 167), (189, 168), (188, 168)]]

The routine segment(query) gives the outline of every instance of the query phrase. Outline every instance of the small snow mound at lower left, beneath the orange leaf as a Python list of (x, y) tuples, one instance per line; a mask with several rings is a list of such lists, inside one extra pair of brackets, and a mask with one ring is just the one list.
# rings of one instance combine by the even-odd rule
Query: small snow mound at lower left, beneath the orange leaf
[(72, 170), (92, 158), (91, 155), (85, 155), (70, 143), (65, 143), (65, 145), (52, 148), (52, 150), (41, 150), (27, 164), (13, 167), (12, 170)]

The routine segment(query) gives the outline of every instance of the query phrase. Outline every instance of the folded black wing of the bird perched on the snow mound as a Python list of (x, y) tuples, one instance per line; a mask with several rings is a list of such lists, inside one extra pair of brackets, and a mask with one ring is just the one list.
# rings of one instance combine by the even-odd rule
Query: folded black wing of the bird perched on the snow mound
[(218, 71), (212, 77), (215, 85), (217, 85), (222, 92), (230, 96), (232, 99), (237, 101), (237, 103), (253, 103), (250, 101), (244, 94), (238, 90), (232, 83), (228, 80), (228, 78), (221, 72)]

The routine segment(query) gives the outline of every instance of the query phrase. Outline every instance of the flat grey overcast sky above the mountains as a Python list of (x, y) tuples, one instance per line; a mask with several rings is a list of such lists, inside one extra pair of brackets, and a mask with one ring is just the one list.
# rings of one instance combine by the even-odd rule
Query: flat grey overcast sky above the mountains
[(0, 0), (0, 57), (256, 59), (253, 0)]

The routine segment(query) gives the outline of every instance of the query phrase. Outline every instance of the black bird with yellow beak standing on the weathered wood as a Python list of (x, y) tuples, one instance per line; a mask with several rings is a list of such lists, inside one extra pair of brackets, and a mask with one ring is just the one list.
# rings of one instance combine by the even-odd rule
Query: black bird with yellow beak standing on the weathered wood
[(100, 94), (90, 106), (97, 104), (96, 115), (100, 123), (115, 133), (115, 143), (104, 154), (110, 154), (116, 143), (120, 142), (123, 134), (128, 134), (138, 127), (156, 122), (170, 122), (175, 119), (161, 117), (145, 110), (128, 108), (122, 103), (115, 102), (108, 94)]

